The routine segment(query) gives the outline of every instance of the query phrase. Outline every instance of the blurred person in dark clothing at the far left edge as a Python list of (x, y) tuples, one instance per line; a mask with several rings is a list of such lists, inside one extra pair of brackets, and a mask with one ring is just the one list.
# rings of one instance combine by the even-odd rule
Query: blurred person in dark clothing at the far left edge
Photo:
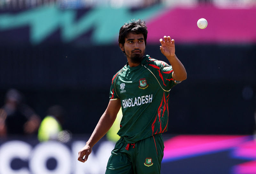
[(41, 119), (24, 102), (20, 91), (10, 89), (6, 92), (4, 106), (0, 108), (0, 135), (36, 134)]

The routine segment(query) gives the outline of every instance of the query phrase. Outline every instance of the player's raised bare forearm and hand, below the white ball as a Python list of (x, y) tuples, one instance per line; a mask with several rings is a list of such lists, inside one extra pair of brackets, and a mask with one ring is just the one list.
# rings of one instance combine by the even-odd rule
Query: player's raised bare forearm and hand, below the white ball
[(164, 36), (164, 40), (159, 40), (161, 43), (160, 50), (162, 54), (168, 59), (172, 65), (173, 74), (172, 77), (174, 80), (183, 81), (187, 79), (187, 72), (183, 64), (175, 55), (175, 45), (174, 39), (171, 40), (171, 37)]

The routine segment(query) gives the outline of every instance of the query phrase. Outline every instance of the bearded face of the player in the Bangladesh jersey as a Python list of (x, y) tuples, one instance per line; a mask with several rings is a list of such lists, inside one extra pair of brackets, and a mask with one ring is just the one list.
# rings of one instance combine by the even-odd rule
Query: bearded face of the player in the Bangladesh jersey
[(127, 38), (125, 38), (123, 49), (128, 59), (133, 63), (140, 63), (145, 54), (145, 41), (143, 34), (128, 33)]

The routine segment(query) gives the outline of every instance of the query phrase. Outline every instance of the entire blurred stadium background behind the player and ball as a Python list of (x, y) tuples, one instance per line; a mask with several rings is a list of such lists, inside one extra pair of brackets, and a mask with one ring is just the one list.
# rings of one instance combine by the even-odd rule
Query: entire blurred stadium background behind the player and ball
[(77, 153), (127, 62), (119, 29), (140, 18), (146, 54), (167, 61), (170, 35), (188, 73), (171, 90), (161, 173), (255, 174), (255, 16), (256, 0), (0, 0), (0, 173), (105, 172), (114, 139), (86, 163)]

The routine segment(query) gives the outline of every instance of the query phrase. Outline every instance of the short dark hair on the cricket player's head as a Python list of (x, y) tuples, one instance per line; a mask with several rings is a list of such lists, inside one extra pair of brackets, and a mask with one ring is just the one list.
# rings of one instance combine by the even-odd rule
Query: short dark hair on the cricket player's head
[(147, 44), (148, 30), (145, 21), (143, 20), (132, 20), (129, 23), (125, 23), (119, 31), (118, 43), (124, 44), (127, 34), (131, 32), (133, 34), (143, 34), (145, 45)]

